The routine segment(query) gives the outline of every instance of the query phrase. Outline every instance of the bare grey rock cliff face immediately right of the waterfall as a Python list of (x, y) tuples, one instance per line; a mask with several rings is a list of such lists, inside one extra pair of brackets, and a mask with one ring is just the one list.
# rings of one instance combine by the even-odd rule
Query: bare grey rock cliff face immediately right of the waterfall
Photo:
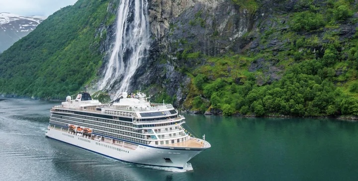
[(153, 38), (151, 59), (137, 74), (137, 85), (149, 92), (166, 90), (175, 105), (187, 95), (190, 78), (180, 67), (195, 67), (204, 60), (181, 61), (178, 55), (200, 52), (216, 56), (243, 48), (241, 37), (253, 27), (254, 14), (223, 0), (152, 0), (149, 9)]

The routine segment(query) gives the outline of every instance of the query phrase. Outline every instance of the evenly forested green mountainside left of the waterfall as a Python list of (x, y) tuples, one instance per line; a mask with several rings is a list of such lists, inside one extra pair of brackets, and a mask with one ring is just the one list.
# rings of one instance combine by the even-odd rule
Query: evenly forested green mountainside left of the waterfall
[(78, 0), (55, 12), (0, 55), (0, 92), (37, 98), (65, 98), (88, 84), (101, 66), (96, 32), (109, 0)]

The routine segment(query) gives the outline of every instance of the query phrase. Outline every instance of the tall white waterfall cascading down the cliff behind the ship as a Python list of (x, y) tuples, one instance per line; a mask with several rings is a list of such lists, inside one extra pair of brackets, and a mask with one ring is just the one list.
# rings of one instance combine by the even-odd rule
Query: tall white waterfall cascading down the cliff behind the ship
[(110, 89), (118, 80), (119, 93), (128, 91), (137, 68), (148, 57), (150, 31), (147, 0), (122, 0), (118, 7), (116, 39), (99, 88)]

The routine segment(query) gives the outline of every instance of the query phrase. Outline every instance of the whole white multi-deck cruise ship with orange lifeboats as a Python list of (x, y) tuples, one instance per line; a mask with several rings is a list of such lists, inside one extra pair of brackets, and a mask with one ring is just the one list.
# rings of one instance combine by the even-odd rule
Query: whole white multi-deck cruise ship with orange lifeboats
[(80, 92), (51, 109), (46, 135), (116, 160), (183, 169), (211, 146), (183, 123), (171, 104), (150, 103), (144, 93), (124, 92), (118, 102), (101, 104)]

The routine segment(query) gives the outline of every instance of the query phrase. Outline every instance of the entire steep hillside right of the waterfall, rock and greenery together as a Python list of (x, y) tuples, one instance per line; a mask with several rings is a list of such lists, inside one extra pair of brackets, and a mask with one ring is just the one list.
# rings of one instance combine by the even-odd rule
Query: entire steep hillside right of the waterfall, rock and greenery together
[(150, 79), (149, 90), (166, 90), (159, 99), (207, 114), (358, 114), (354, 0), (153, 0), (152, 8), (167, 62)]

